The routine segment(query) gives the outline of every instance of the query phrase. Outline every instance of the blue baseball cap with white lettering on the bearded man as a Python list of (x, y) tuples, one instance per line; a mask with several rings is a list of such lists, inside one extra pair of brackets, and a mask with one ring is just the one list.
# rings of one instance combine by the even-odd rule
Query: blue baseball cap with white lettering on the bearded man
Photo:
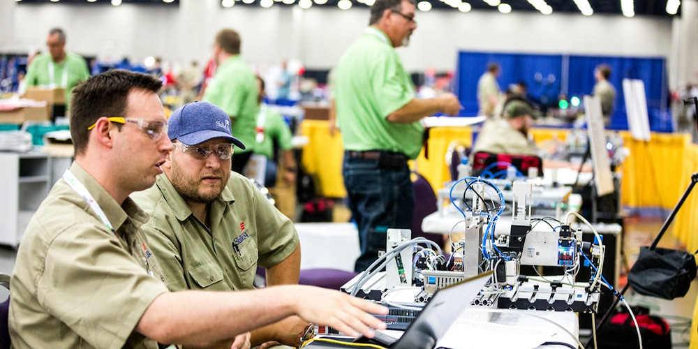
[(212, 138), (225, 138), (240, 149), (245, 144), (230, 133), (230, 117), (221, 108), (208, 102), (195, 101), (174, 110), (168, 119), (168, 137), (186, 145), (195, 145)]

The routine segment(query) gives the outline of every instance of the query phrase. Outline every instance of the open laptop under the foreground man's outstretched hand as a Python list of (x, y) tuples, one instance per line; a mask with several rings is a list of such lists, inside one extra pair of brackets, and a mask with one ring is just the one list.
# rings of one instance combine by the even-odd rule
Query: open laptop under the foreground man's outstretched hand
[[(377, 344), (389, 349), (433, 349), (489, 281), (492, 273), (486, 272), (436, 291), (400, 339), (376, 331), (373, 338), (359, 336), (354, 342)], [(311, 343), (309, 347), (346, 348), (341, 345), (326, 346), (325, 343), (318, 342)]]

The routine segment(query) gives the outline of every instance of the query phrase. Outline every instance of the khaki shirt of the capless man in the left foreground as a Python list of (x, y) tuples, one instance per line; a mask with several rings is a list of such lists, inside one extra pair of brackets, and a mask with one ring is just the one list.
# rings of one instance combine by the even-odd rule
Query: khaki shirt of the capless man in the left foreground
[(10, 283), (14, 348), (158, 348), (134, 332), (153, 302), (168, 292), (133, 201), (117, 202), (80, 165), (82, 182), (112, 223), (59, 180), (31, 218)]

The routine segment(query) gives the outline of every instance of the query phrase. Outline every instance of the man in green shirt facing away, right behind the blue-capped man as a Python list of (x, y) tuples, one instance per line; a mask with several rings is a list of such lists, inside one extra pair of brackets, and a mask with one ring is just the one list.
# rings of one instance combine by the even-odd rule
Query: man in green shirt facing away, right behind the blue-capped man
[[(223, 29), (216, 34), (214, 59), (218, 64), (202, 101), (225, 110), (232, 123), (232, 135), (244, 144), (254, 144), (257, 119), (257, 82), (252, 69), (240, 57), (237, 31)], [(242, 173), (252, 155), (251, 149), (235, 151), (232, 171)]]

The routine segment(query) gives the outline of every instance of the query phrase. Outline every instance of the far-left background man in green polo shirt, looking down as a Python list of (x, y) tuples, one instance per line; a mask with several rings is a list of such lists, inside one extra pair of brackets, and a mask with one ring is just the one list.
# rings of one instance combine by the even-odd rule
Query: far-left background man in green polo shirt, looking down
[(66, 34), (62, 29), (51, 29), (46, 45), (48, 52), (34, 57), (24, 79), (28, 86), (65, 89), (68, 108), (70, 91), (89, 77), (87, 63), (80, 54), (66, 52)]

